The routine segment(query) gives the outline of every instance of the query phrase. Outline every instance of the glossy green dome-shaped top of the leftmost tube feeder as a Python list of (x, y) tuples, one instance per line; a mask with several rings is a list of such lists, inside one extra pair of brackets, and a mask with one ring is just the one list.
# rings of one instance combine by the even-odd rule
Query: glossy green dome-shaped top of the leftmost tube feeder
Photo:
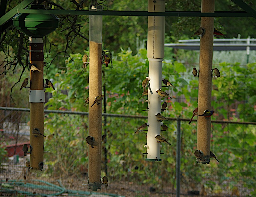
[[(29, 5), (26, 9), (46, 10), (44, 5)], [(60, 20), (53, 14), (16, 14), (13, 25), (29, 37), (41, 38), (55, 31)]]

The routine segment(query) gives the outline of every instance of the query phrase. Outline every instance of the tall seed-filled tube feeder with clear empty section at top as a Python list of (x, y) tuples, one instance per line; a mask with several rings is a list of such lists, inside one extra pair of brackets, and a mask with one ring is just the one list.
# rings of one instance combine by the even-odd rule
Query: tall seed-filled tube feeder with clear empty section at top
[[(102, 11), (102, 6), (92, 5), (90, 11)], [(94, 137), (92, 148), (89, 146), (88, 189), (101, 189), (101, 132), (102, 104), (93, 104), (95, 97), (102, 95), (102, 16), (89, 16), (89, 136)]]

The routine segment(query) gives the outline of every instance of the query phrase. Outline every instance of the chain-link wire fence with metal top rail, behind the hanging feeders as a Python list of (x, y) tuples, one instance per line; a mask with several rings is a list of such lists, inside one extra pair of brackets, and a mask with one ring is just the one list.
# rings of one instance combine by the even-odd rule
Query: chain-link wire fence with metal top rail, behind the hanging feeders
[[(29, 145), (29, 109), (0, 108), (0, 194), (110, 196), (175, 196), (177, 118), (163, 136), (161, 162), (145, 161), (146, 132), (135, 134), (144, 116), (103, 114), (102, 177), (108, 187), (88, 191), (88, 113), (45, 110), (45, 171), (30, 172), (22, 146)], [(209, 196), (255, 195), (255, 123), (212, 121), (211, 151), (217, 160), (196, 163), (196, 122), (181, 120), (180, 193)]]

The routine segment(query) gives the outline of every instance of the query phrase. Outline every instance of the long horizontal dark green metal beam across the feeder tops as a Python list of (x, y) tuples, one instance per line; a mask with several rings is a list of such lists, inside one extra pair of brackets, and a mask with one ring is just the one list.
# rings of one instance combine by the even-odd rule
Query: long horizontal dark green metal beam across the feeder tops
[(248, 12), (148, 12), (148, 11), (88, 11), (88, 10), (27, 10), (19, 9), (18, 13), (56, 14), (56, 15), (110, 15), (110, 16), (166, 16), (166, 17), (253, 17)]

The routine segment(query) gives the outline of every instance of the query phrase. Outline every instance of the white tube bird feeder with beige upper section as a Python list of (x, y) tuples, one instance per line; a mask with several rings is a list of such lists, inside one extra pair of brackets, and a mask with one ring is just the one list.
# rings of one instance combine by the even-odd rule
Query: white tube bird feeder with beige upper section
[[(148, 0), (148, 12), (165, 12), (165, 0)], [(150, 78), (150, 87), (153, 94), (148, 94), (148, 127), (146, 161), (161, 161), (160, 143), (157, 143), (156, 135), (161, 135), (161, 122), (157, 121), (156, 113), (161, 112), (161, 98), (159, 98), (157, 89), (162, 84), (162, 61), (164, 58), (164, 32), (165, 17), (148, 17), (148, 51), (149, 61), (148, 77)]]

